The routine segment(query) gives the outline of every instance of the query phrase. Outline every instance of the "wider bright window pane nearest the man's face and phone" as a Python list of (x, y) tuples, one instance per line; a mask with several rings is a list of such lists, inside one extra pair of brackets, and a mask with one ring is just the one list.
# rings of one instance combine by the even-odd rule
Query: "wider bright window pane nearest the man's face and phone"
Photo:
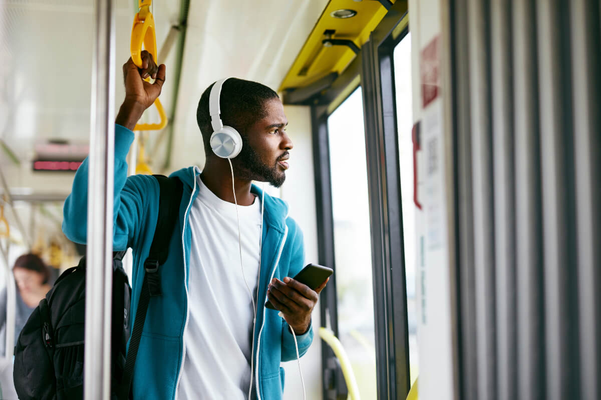
[(338, 333), (361, 398), (374, 399), (376, 350), (361, 88), (328, 118)]

